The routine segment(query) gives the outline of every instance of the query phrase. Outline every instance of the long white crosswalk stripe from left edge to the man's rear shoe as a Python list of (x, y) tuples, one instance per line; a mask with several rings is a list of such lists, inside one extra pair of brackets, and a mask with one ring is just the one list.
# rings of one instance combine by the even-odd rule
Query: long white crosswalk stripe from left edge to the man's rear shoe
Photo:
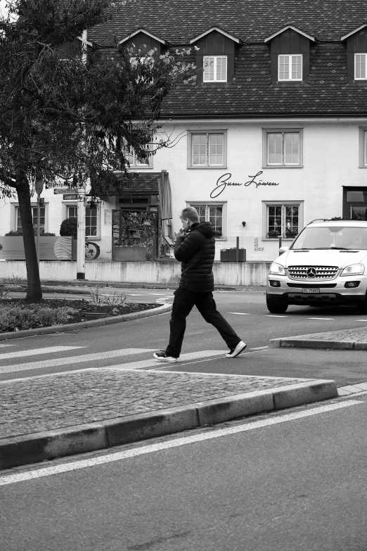
[[(60, 348), (63, 348), (63, 347), (60, 347)], [(44, 369), (45, 367), (58, 367), (59, 365), (67, 365), (67, 364), (74, 365), (82, 362), (93, 362), (94, 360), (107, 360), (110, 357), (129, 356), (132, 354), (143, 354), (146, 352), (154, 352), (155, 350), (156, 348), (122, 348), (121, 350), (110, 350), (108, 352), (84, 354), (82, 356), (60, 357), (60, 358), (55, 358), (53, 360), (41, 360), (39, 362), (27, 362), (27, 363), (16, 364), (16, 365), (4, 365), (4, 366), (0, 366), (0, 373), (28, 371), (30, 369)], [(29, 352), (28, 350), (25, 351), (26, 354), (28, 354), (28, 352)], [(103, 366), (100, 366), (100, 367), (103, 367)]]

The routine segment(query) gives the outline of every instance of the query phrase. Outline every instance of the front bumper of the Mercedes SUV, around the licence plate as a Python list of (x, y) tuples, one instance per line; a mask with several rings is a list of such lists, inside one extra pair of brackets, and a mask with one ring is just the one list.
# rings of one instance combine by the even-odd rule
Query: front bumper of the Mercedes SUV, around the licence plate
[[(276, 281), (279, 286), (273, 286), (271, 284), (273, 281)], [(345, 284), (349, 281), (355, 281), (357, 286), (346, 288)], [(304, 289), (318, 289), (318, 291), (307, 293)], [(295, 281), (288, 276), (269, 274), (266, 285), (266, 295), (270, 299), (301, 305), (356, 305), (366, 298), (366, 291), (366, 276), (336, 277), (328, 281), (321, 279)]]

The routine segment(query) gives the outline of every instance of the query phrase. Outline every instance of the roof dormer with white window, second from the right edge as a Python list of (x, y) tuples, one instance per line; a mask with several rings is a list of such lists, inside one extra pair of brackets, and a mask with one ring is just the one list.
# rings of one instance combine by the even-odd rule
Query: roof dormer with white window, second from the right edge
[(270, 44), (272, 84), (308, 81), (310, 42), (316, 42), (314, 37), (288, 25), (264, 42)]

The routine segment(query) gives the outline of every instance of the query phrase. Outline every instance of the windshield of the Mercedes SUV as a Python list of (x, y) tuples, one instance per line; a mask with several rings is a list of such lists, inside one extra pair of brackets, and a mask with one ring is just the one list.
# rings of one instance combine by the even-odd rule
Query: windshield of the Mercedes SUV
[(290, 247), (300, 249), (367, 249), (367, 227), (307, 226)]

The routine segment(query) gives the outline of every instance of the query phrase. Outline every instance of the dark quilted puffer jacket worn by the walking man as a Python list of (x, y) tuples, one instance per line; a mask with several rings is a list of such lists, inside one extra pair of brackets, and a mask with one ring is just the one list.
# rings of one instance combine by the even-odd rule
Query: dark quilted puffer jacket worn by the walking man
[(210, 222), (193, 224), (185, 237), (178, 237), (174, 256), (181, 261), (179, 286), (200, 293), (213, 291), (214, 254), (214, 229)]

